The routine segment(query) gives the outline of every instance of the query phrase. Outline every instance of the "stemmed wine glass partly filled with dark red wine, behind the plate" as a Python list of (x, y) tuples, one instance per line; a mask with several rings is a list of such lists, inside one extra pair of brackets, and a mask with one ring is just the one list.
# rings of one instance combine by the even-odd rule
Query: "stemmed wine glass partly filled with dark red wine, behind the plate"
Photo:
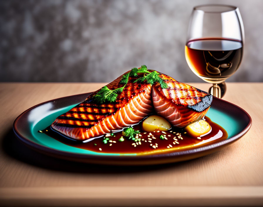
[(221, 98), (225, 80), (235, 73), (243, 55), (244, 26), (236, 6), (195, 6), (185, 46), (186, 61), (195, 75), (213, 86), (209, 92)]

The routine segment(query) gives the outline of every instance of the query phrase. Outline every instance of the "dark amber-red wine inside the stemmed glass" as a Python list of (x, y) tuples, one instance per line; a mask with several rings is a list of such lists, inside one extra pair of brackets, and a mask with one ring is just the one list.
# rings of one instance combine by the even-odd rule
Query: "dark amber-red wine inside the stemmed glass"
[(243, 54), (242, 42), (234, 39), (205, 38), (186, 43), (190, 69), (209, 83), (219, 83), (238, 69)]

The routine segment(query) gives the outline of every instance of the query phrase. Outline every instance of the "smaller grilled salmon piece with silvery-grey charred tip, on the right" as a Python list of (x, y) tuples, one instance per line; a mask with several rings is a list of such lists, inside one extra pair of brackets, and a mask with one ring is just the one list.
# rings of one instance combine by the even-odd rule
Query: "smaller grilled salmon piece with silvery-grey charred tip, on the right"
[(154, 109), (173, 126), (185, 127), (205, 116), (212, 103), (212, 95), (178, 81), (166, 81), (152, 88)]

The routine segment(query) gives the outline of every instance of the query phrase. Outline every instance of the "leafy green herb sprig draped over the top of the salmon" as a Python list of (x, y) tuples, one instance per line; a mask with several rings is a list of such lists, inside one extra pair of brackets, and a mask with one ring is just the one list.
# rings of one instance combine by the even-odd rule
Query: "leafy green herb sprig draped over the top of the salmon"
[(160, 78), (160, 74), (157, 71), (150, 72), (148, 71), (146, 65), (142, 65), (141, 68), (133, 68), (129, 73), (126, 73), (122, 76), (120, 84), (124, 84), (124, 86), (114, 90), (111, 90), (107, 86), (104, 86), (100, 89), (100, 91), (97, 92), (95, 96), (93, 96), (93, 99), (100, 104), (104, 103), (105, 101), (116, 101), (118, 93), (121, 93), (123, 91), (124, 87), (129, 81), (129, 77), (138, 77), (139, 73), (144, 73), (144, 76), (136, 79), (134, 83), (142, 83), (146, 81), (148, 84), (151, 85), (159, 83), (162, 89), (166, 89), (168, 87), (163, 79)]

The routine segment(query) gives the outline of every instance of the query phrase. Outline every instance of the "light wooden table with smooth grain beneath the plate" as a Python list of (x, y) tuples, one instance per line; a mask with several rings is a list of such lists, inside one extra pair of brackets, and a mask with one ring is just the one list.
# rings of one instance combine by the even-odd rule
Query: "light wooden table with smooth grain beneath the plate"
[[(0, 84), (0, 205), (263, 205), (263, 83), (227, 83), (223, 99), (252, 117), (245, 136), (216, 153), (181, 163), (140, 167), (74, 163), (42, 155), (14, 136), (15, 118), (31, 106), (104, 85)], [(210, 86), (191, 85), (203, 90)]]

